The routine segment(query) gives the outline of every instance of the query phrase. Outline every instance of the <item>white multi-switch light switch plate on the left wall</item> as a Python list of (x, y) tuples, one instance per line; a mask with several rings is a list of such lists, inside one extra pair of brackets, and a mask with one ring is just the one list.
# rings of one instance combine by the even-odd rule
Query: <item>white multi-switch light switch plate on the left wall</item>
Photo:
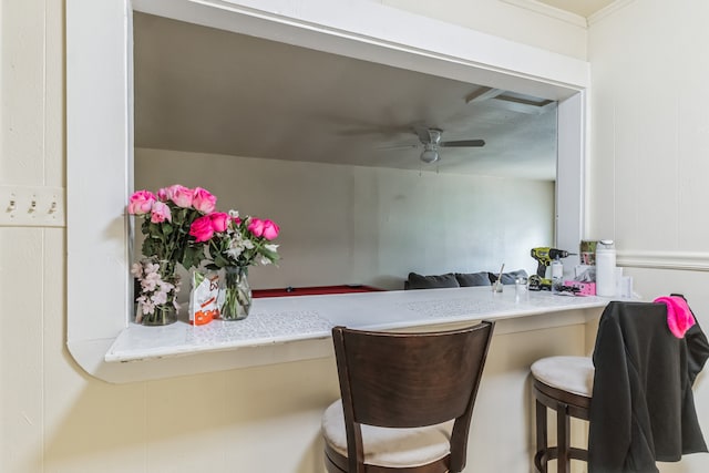
[(0, 226), (64, 227), (63, 187), (0, 186)]

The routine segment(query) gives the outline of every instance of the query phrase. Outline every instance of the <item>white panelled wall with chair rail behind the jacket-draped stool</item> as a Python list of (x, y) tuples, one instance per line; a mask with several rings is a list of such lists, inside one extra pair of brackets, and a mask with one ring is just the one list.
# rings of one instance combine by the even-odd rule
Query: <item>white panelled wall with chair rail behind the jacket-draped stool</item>
[[(614, 238), (646, 298), (684, 292), (709, 327), (709, 3), (629, 2), (592, 25), (589, 235)], [(682, 268), (693, 266), (697, 270)], [(709, 434), (709, 382), (695, 395)], [(671, 471), (706, 471), (689, 455)], [(667, 470), (670, 471), (670, 470)]]

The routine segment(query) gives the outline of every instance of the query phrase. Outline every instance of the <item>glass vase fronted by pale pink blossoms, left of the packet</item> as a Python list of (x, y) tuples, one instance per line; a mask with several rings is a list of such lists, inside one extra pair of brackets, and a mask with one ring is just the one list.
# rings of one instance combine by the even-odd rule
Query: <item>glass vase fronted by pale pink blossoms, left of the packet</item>
[(166, 326), (177, 321), (179, 275), (175, 261), (144, 258), (138, 263), (135, 321), (144, 326)]

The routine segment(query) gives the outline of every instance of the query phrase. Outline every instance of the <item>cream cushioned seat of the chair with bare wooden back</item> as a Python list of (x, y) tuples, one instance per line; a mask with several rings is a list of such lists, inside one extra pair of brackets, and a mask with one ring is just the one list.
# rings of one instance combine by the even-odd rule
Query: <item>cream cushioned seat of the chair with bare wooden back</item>
[[(415, 429), (386, 429), (372, 425), (362, 425), (361, 429), (366, 463), (389, 467), (420, 466), (449, 453), (453, 421)], [(322, 435), (335, 451), (347, 456), (341, 400), (335, 401), (325, 411)]]

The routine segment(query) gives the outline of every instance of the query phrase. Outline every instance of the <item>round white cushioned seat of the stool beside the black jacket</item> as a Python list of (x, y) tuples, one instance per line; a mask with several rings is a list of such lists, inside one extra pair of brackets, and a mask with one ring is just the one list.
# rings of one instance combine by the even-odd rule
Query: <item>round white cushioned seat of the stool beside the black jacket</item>
[(532, 376), (552, 388), (590, 398), (594, 362), (589, 357), (547, 357), (532, 364)]

